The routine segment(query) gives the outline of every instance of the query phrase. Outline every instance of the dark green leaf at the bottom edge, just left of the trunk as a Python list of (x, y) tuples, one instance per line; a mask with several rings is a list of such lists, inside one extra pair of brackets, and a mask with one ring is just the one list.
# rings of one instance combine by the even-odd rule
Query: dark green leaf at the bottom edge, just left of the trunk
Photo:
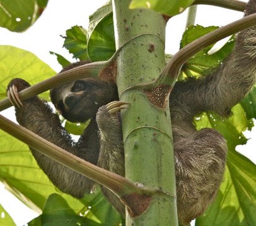
[(69, 195), (49, 196), (42, 215), (28, 225), (120, 225), (121, 218), (99, 188), (82, 200)]

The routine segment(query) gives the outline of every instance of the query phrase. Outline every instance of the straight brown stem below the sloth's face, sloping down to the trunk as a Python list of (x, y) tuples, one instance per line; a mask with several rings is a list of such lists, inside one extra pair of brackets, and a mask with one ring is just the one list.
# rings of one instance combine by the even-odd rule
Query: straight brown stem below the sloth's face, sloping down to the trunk
[[(136, 194), (145, 194), (145, 190), (137, 187), (131, 181), (125, 179), (122, 176), (116, 175), (107, 170), (95, 166), (87, 161), (84, 161), (77, 156), (65, 151), (64, 149), (55, 146), (55, 144), (50, 143), (49, 141), (43, 139), (42, 137), (34, 134), (25, 127), (19, 126), (9, 119), (6, 119), (4, 116), (0, 115), (0, 129), (8, 132), (11, 136), (16, 137), (23, 143), (28, 144), (28, 146), (40, 151), (43, 154), (46, 154), (50, 158), (58, 161), (59, 163), (65, 164), (69, 168), (78, 171), (82, 175), (90, 178), (91, 180), (100, 183), (103, 186), (106, 186), (112, 190), (117, 196), (122, 198), (123, 196), (131, 195), (132, 193)], [(149, 190), (146, 191), (149, 193)]]

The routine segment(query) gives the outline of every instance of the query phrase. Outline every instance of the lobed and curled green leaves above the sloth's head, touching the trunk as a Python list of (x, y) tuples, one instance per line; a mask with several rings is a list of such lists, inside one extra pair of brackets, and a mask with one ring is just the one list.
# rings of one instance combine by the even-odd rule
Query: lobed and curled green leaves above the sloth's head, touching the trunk
[(73, 26), (63, 38), (64, 47), (76, 59), (92, 62), (108, 60), (115, 53), (112, 4), (105, 4), (90, 16), (88, 31)]

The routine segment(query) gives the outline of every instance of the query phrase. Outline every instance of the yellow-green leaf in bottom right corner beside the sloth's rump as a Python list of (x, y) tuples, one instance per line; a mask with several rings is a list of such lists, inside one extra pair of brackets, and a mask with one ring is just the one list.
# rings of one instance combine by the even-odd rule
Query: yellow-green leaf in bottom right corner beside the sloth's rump
[(230, 152), (218, 195), (207, 211), (197, 218), (195, 225), (254, 225), (255, 186), (255, 164), (239, 153)]

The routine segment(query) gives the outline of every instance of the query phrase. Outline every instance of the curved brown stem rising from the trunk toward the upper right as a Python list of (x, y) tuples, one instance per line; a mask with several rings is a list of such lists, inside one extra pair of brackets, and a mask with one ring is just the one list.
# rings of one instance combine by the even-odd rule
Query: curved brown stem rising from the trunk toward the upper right
[[(170, 62), (163, 68), (160, 77), (156, 79), (154, 85), (171, 85), (173, 86), (177, 80), (178, 74), (180, 73), (180, 68), (182, 65), (189, 60), (189, 58), (198, 51), (202, 50), (206, 46), (215, 43), (216, 41), (222, 40), (227, 36), (233, 35), (238, 31), (245, 30), (251, 26), (256, 25), (256, 13), (246, 16), (242, 19), (230, 23), (226, 26), (218, 28), (207, 35), (198, 38), (187, 46), (183, 47), (178, 53), (176, 53)], [(148, 84), (149, 85), (149, 84)]]

